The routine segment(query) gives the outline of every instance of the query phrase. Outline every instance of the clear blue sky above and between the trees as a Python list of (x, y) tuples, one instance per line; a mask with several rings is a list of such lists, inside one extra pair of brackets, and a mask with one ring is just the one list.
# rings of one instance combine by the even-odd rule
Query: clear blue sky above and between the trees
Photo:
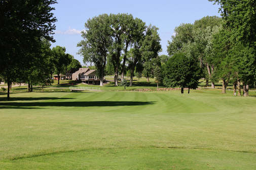
[(140, 18), (147, 25), (152, 24), (159, 28), (162, 52), (167, 54), (167, 41), (171, 40), (174, 28), (181, 23), (193, 23), (204, 16), (220, 16), (218, 6), (207, 0), (59, 0), (53, 11), (58, 19), (54, 34), (56, 45), (64, 46), (66, 52), (75, 56), (82, 65), (83, 57), (78, 55), (77, 43), (82, 40), (81, 30), (85, 22), (100, 14), (128, 13)]

